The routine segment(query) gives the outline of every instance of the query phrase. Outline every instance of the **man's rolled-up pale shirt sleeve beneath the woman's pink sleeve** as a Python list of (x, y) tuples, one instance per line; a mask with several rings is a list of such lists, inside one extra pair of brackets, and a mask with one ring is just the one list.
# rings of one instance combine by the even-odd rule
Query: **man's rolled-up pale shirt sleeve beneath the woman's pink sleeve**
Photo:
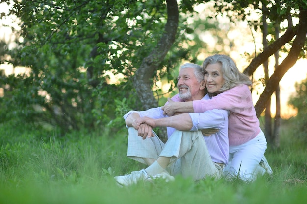
[(213, 109), (204, 113), (189, 113), (193, 127), (190, 131), (198, 131), (206, 128), (222, 128), (228, 121), (228, 111)]

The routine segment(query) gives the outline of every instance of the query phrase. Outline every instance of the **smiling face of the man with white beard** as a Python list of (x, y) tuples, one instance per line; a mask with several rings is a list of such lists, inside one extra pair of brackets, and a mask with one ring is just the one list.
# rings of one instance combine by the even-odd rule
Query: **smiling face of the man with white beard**
[[(194, 75), (194, 68), (180, 69), (178, 75), (177, 88), (179, 96), (185, 101), (192, 101), (201, 94), (201, 86)], [(202, 96), (203, 97), (203, 96)]]

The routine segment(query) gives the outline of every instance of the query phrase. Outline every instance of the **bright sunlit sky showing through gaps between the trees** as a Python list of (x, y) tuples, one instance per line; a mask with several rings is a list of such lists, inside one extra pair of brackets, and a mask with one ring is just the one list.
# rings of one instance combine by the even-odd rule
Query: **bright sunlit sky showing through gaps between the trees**
[[(204, 6), (200, 6), (196, 8), (198, 11), (202, 11), (204, 9)], [(8, 7), (6, 4), (2, 3), (0, 5), (0, 13), (7, 12)], [(200, 12), (200, 15), (202, 15), (204, 12)], [(0, 20), (0, 39), (5, 40), (6, 42), (12, 41), (14, 39), (14, 35), (12, 33), (12, 30), (9, 27), (5, 27), (3, 25), (13, 25), (16, 30), (19, 29), (16, 23), (12, 23), (16, 20), (16, 17), (11, 16), (7, 18), (7, 20)], [(219, 19), (221, 22), (227, 21), (225, 18), (220, 17)], [(230, 51), (230, 57), (232, 57), (236, 62), (238, 68), (241, 68), (241, 71), (243, 71), (244, 68), (248, 65), (249, 62), (242, 57), (244, 56), (244, 52), (251, 52), (253, 53), (253, 50), (255, 50), (254, 42), (251, 36), (251, 31), (248, 28), (247, 24), (244, 22), (239, 22), (237, 25), (238, 29), (232, 30), (227, 34), (228, 38), (233, 40), (235, 44), (238, 46), (238, 49), (231, 50)], [(242, 32), (246, 32), (243, 34)], [(261, 48), (262, 43), (262, 37), (259, 33), (253, 33), (255, 37), (256, 42), (256, 49)], [(207, 35), (207, 34), (204, 34)], [(242, 40), (242, 36), (244, 35), (244, 40)], [(212, 36), (204, 36), (204, 39), (208, 41), (208, 43), (214, 44), (214, 39)], [(14, 47), (14, 43), (9, 44), (9, 48)], [(214, 45), (212, 45), (214, 46)], [(201, 59), (204, 58), (204, 56), (199, 56)], [(274, 59), (272, 58), (270, 61), (274, 62)], [(281, 62), (281, 61), (280, 61)], [(15, 74), (22, 73), (25, 71), (29, 71), (29, 69), (17, 67), (13, 68), (11, 65), (0, 65), (0, 69), (4, 69), (5, 74), (9, 75), (13, 72)], [(270, 65), (270, 73), (272, 74), (274, 71), (274, 65)], [(255, 74), (254, 74), (254, 80), (258, 80), (260, 78), (264, 77), (263, 68), (262, 66), (259, 67)], [(293, 110), (291, 107), (287, 105), (289, 97), (294, 95), (296, 93), (295, 91), (295, 83), (301, 82), (302, 80), (307, 78), (307, 60), (301, 59), (299, 60), (292, 68), (288, 70), (288, 72), (283, 76), (283, 78), (280, 81), (280, 98), (281, 98), (281, 117), (282, 118), (289, 118), (291, 116), (295, 116), (296, 111)], [(164, 87), (164, 86), (163, 86)], [(167, 85), (165, 87), (168, 87)], [(167, 88), (168, 89), (168, 88)], [(259, 93), (262, 93), (264, 90), (264, 87), (262, 85), (258, 85), (254, 88), (253, 91), (253, 101), (254, 104), (256, 104)], [(2, 90), (3, 91), (3, 90)], [(1, 96), (1, 90), (0, 90), (0, 96)], [(275, 95), (272, 96), (272, 105), (271, 105), (271, 112), (272, 116), (275, 114)]]

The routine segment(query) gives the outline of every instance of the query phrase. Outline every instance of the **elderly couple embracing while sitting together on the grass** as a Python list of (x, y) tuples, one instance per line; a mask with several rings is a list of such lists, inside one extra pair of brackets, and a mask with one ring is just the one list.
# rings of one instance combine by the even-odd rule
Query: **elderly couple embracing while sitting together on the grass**
[[(248, 182), (272, 174), (249, 85), (250, 79), (226, 55), (206, 58), (203, 67), (182, 65), (179, 94), (163, 107), (124, 115), (127, 157), (148, 167), (116, 176), (117, 183), (172, 181), (178, 174), (195, 181), (224, 175)], [(167, 127), (165, 143), (152, 130), (155, 127)]]

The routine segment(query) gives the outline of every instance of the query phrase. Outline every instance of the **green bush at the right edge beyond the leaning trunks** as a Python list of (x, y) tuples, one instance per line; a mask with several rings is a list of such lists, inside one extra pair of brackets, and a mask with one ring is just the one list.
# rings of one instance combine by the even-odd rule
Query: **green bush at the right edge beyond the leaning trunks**
[(297, 115), (293, 118), (298, 125), (294, 130), (295, 135), (301, 137), (302, 141), (307, 143), (307, 79), (301, 83), (296, 83), (296, 95), (292, 96), (289, 104), (297, 109)]

